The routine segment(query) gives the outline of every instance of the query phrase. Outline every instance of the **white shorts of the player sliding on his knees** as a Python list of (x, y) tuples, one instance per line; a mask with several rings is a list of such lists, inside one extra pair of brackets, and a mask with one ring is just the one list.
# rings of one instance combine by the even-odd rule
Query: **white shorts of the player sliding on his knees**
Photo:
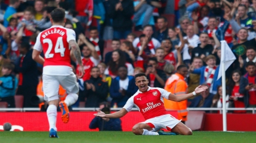
[(154, 131), (159, 131), (162, 128), (171, 131), (181, 120), (176, 119), (175, 117), (171, 116), (170, 114), (162, 115), (159, 117), (149, 118), (145, 122), (147, 125), (151, 126)]

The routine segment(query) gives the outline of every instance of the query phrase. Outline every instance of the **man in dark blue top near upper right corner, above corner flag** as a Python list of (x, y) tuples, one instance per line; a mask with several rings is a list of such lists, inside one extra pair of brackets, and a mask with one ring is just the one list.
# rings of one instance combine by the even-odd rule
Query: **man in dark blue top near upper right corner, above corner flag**
[(245, 5), (239, 5), (237, 7), (237, 14), (240, 18), (241, 27), (251, 28), (252, 27), (252, 18), (247, 15), (247, 8)]

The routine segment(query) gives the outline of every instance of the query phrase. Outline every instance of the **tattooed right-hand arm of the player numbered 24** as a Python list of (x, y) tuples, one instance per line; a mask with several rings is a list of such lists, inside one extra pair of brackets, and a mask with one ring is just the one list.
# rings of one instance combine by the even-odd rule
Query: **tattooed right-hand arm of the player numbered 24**
[(85, 74), (85, 70), (83, 69), (83, 63), (82, 63), (82, 60), (81, 60), (80, 48), (78, 47), (78, 44), (77, 44), (76, 41), (74, 41), (74, 40), (69, 41), (69, 45), (70, 45), (70, 47), (72, 48), (73, 55), (75, 56), (76, 61), (77, 61), (78, 64), (79, 64), (79, 74), (78, 74), (78, 78), (80, 79), (80, 78), (82, 78), (83, 75)]

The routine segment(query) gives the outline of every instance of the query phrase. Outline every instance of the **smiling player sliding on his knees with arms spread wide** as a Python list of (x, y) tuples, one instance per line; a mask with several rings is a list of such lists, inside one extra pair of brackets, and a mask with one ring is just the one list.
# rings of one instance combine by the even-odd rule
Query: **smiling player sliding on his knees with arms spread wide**
[[(136, 74), (135, 84), (138, 86), (139, 90), (128, 99), (122, 110), (112, 114), (105, 114), (104, 112), (97, 110), (97, 114), (94, 115), (101, 118), (120, 118), (130, 112), (133, 106), (136, 106), (146, 121), (133, 126), (134, 134), (176, 135), (176, 133), (178, 133), (191, 135), (192, 131), (188, 126), (168, 114), (163, 106), (163, 98), (179, 102), (191, 98), (192, 96), (199, 95), (207, 90), (208, 87), (199, 86), (192, 93), (176, 96), (162, 88), (148, 87), (148, 83), (149, 80), (147, 80), (144, 73)], [(162, 128), (168, 129), (171, 132), (163, 132), (160, 130)]]

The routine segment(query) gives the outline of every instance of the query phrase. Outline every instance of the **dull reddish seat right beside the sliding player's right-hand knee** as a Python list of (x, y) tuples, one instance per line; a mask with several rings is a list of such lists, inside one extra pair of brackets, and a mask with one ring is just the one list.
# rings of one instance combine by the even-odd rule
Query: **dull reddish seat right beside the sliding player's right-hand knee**
[(204, 128), (204, 111), (189, 111), (188, 120), (185, 125), (192, 129), (192, 131), (202, 131)]

